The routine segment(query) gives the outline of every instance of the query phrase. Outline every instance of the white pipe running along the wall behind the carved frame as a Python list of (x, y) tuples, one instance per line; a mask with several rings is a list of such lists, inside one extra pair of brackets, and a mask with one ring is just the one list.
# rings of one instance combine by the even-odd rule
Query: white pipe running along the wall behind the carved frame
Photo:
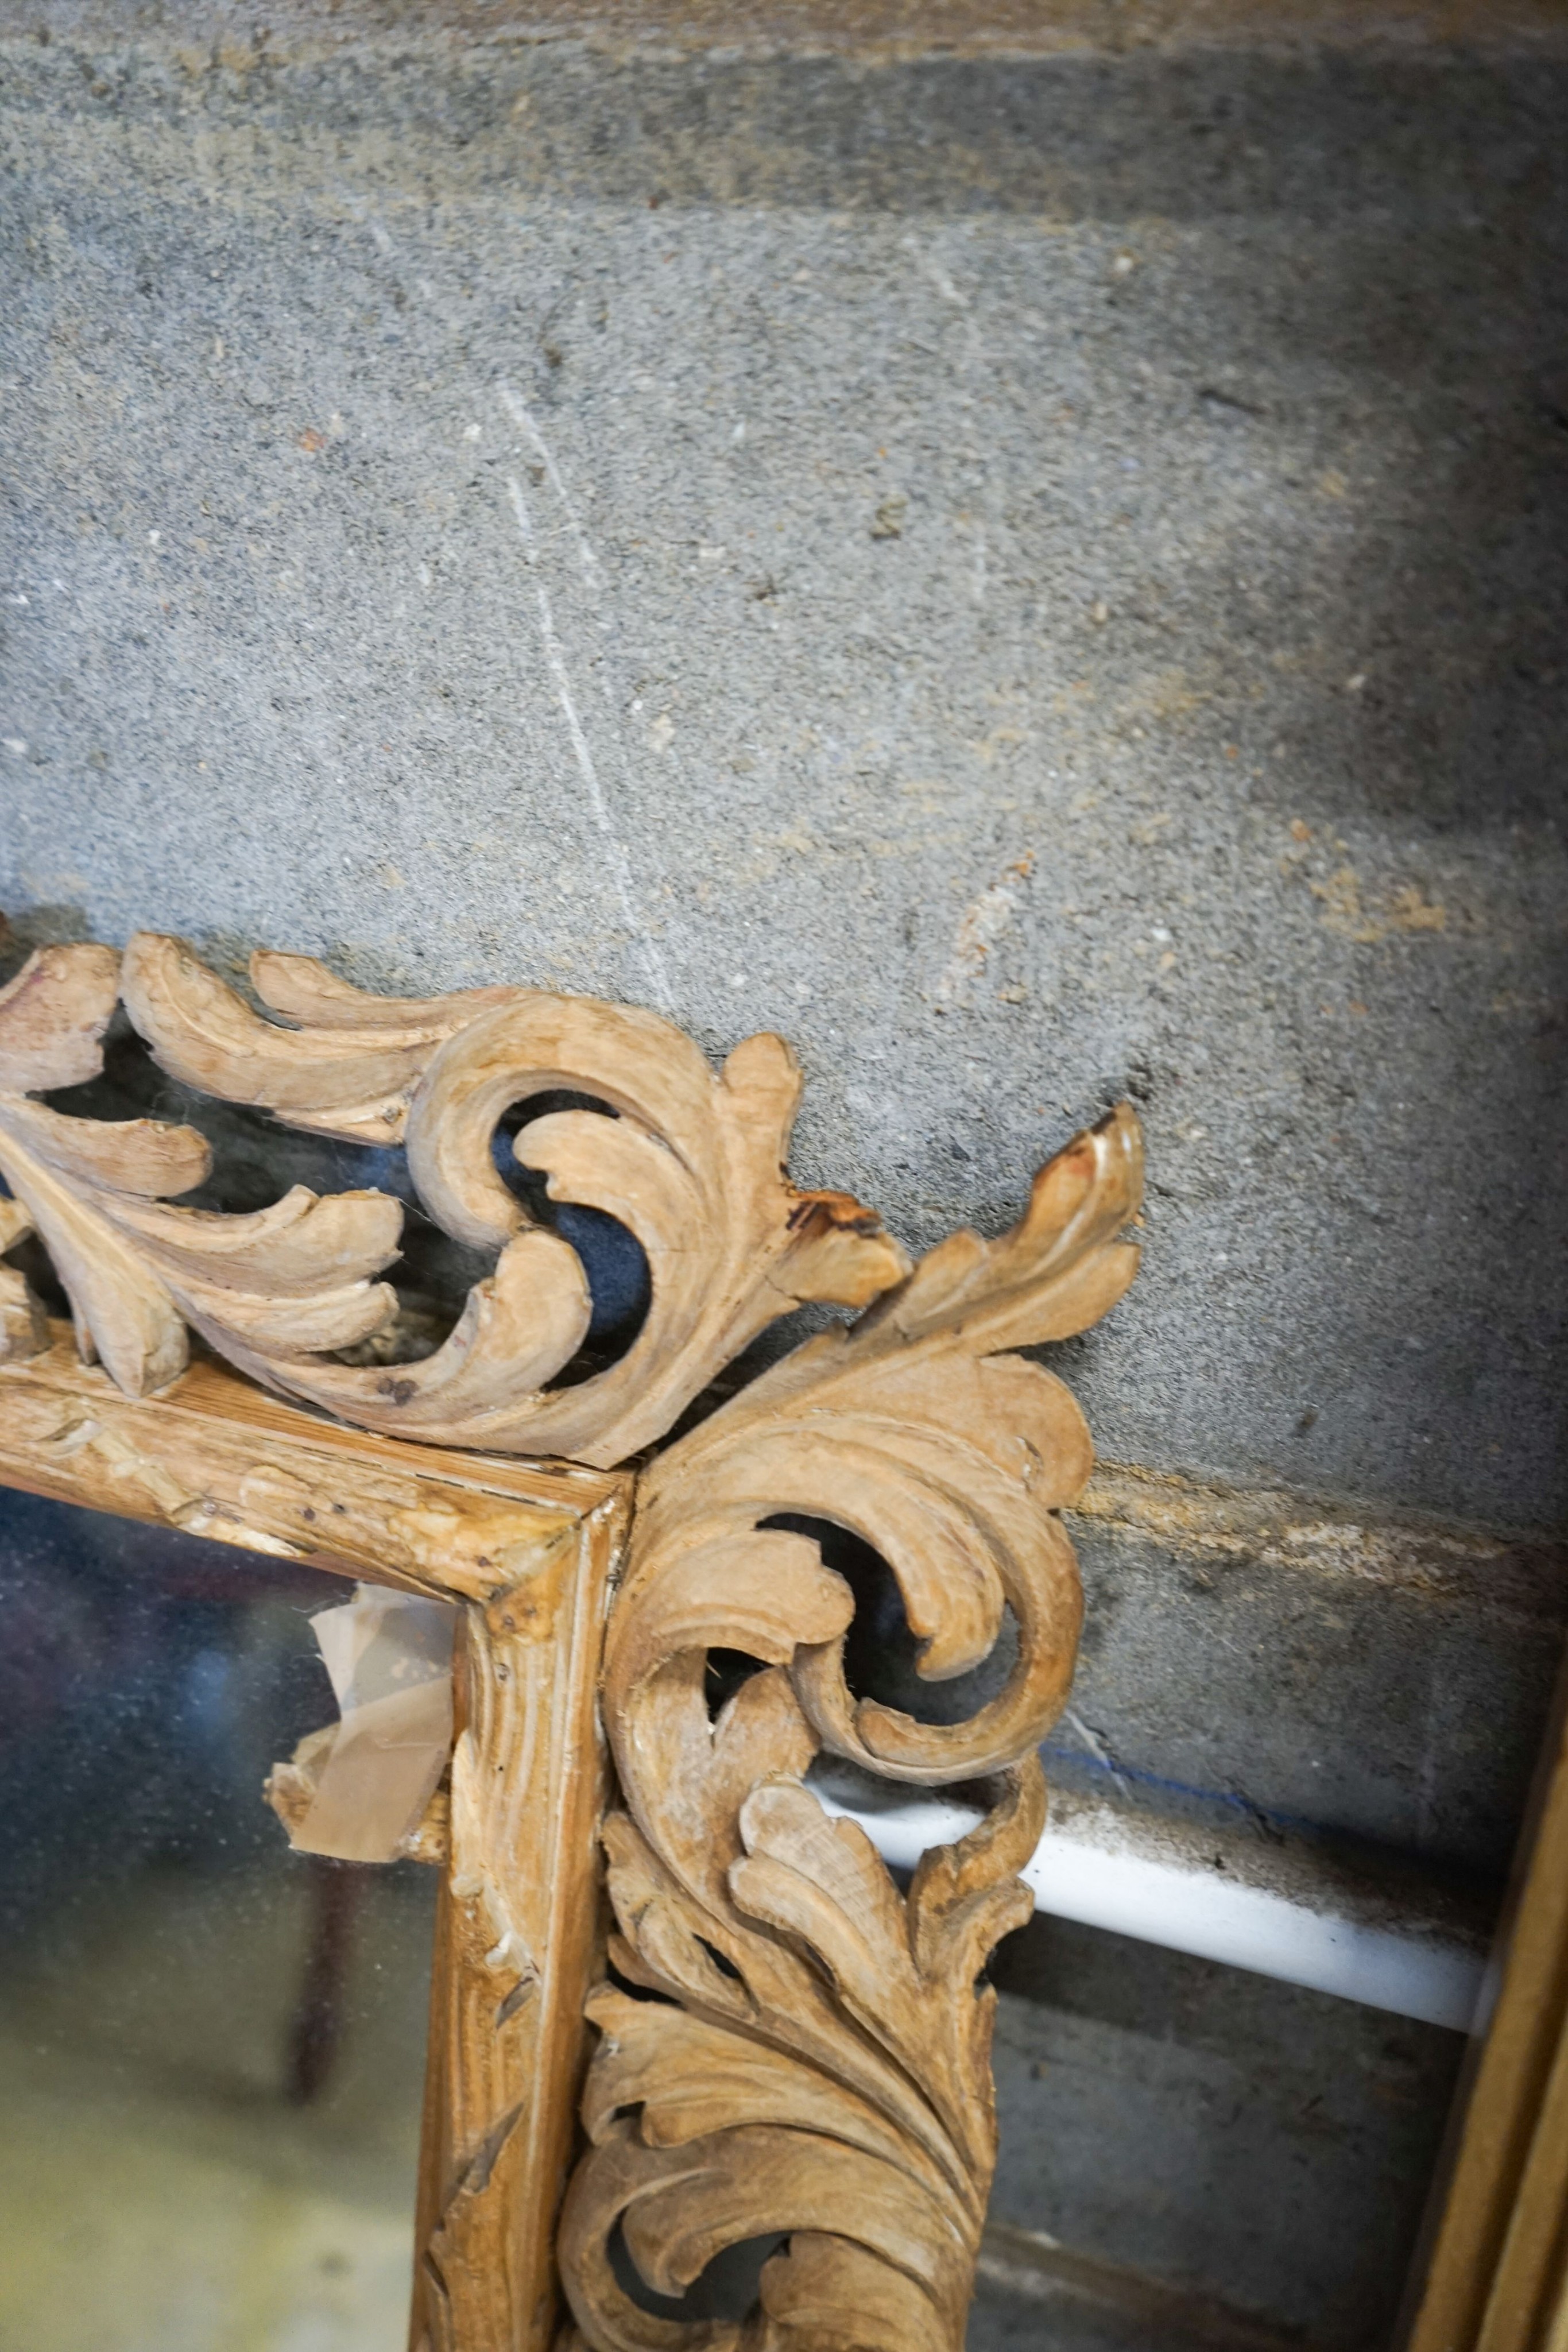
[[(816, 1795), (830, 1813), (858, 1820), (882, 1858), (900, 1870), (912, 1870), (926, 1846), (964, 1837), (980, 1818), (940, 1799), (860, 1813), (825, 1790)], [(1131, 1839), (1091, 1842), (1063, 1830), (1046, 1830), (1020, 1877), (1034, 1889), (1034, 1907), (1058, 1919), (1335, 1992), (1427, 2025), (1469, 2032), (1476, 2020), (1486, 1962), (1420, 1929), (1371, 1926), (1211, 1867), (1157, 1860)]]

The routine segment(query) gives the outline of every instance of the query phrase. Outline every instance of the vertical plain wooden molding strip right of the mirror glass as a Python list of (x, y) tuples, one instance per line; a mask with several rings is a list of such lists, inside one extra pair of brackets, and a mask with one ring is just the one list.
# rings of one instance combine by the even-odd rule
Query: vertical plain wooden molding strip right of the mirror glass
[(536, 1576), (463, 1606), (411, 2352), (517, 2352), (555, 2333), (555, 2225), (604, 1947), (597, 1679), (621, 1524), (602, 1505)]

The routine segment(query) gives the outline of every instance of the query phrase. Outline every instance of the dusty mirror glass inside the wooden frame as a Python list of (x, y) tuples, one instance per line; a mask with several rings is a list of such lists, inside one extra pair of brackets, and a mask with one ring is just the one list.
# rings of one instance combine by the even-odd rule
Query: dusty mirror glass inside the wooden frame
[(350, 1590), (0, 1489), (0, 2345), (402, 2345), (435, 1872), (261, 1799)]

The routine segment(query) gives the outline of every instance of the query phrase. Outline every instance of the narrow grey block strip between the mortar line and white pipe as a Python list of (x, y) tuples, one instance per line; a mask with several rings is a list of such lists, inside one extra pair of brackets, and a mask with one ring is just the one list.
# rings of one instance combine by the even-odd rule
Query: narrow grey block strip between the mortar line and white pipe
[(1371, 1839), (1502, 1877), (1561, 1621), (1157, 1545), (1081, 1548), (1088, 1613), (1046, 1766), (1128, 1804)]

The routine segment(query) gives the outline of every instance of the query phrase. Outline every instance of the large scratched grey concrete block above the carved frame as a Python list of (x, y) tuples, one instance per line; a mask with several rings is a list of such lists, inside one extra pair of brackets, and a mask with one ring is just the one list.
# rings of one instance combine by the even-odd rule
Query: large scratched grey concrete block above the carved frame
[(5, 52), (0, 894), (802, 1049), (1107, 1451), (1561, 1512), (1563, 68)]

